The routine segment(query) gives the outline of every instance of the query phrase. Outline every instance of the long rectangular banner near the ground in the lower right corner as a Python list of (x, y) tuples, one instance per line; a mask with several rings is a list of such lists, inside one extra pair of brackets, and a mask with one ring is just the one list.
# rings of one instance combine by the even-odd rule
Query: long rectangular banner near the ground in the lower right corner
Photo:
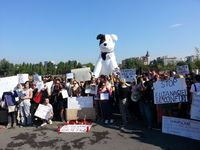
[(200, 122), (163, 116), (162, 132), (200, 140)]

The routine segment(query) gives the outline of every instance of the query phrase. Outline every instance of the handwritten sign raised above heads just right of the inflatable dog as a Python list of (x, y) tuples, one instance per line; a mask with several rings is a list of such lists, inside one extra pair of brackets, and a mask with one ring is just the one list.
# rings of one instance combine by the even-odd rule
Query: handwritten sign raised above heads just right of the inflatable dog
[(121, 69), (120, 77), (126, 79), (127, 82), (132, 82), (136, 79), (136, 69)]

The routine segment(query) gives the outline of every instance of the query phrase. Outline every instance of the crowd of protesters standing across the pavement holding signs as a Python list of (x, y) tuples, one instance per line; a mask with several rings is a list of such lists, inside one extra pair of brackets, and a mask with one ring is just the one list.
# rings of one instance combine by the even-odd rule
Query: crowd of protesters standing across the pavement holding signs
[[(185, 78), (187, 85), (187, 102), (173, 104), (154, 104), (153, 83), (157, 80), (169, 78)], [(51, 87), (46, 83), (53, 82)], [(52, 124), (52, 121), (65, 122), (65, 110), (68, 98), (63, 97), (63, 91), (68, 97), (93, 96), (96, 120), (104, 124), (113, 124), (113, 112), (121, 114), (122, 129), (128, 128), (130, 118), (141, 120), (148, 129), (160, 127), (162, 116), (175, 116), (190, 118), (190, 106), (192, 93), (200, 91), (200, 75), (190, 74), (186, 76), (175, 73), (156, 73), (149, 71), (138, 75), (132, 82), (126, 82), (119, 75), (98, 78), (91, 76), (89, 81), (77, 81), (61, 77), (44, 76), (43, 88), (38, 88), (34, 81), (18, 84), (14, 91), (4, 92), (1, 101), (6, 101), (8, 110), (7, 127), (20, 127)], [(97, 88), (96, 94), (87, 93), (89, 86)], [(102, 100), (101, 95), (108, 95)], [(49, 118), (44, 120), (34, 114), (39, 104), (46, 105), (51, 112)], [(15, 106), (15, 107), (11, 107)]]

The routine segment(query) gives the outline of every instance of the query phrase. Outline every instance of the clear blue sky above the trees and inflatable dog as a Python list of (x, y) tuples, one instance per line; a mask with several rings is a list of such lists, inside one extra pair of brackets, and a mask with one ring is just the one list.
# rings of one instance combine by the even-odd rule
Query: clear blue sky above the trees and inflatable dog
[(0, 0), (0, 59), (96, 63), (99, 33), (118, 36), (119, 63), (194, 55), (200, 0)]

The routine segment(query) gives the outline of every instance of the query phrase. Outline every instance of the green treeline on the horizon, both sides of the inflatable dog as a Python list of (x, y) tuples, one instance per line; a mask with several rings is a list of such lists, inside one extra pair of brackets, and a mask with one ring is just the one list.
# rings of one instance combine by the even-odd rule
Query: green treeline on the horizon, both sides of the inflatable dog
[[(193, 72), (195, 69), (200, 69), (200, 59), (196, 59), (193, 62), (190, 61), (179, 61), (176, 64), (167, 64), (164, 65), (164, 62), (160, 59), (152, 60), (149, 65), (144, 65), (144, 62), (138, 59), (127, 60), (125, 63), (120, 65), (122, 69), (136, 68), (137, 74), (148, 70), (159, 71), (176, 71), (176, 66), (188, 65), (190, 72)], [(59, 62), (57, 64), (52, 63), (51, 61), (47, 63), (39, 62), (37, 64), (32, 63), (22, 63), (22, 64), (13, 64), (6, 59), (0, 60), (0, 77), (12, 76), (19, 73), (29, 73), (33, 75), (38, 73), (40, 75), (58, 75), (66, 74), (71, 71), (71, 69), (90, 67), (91, 71), (94, 69), (92, 63), (81, 64), (76, 60), (69, 60), (67, 62)]]

